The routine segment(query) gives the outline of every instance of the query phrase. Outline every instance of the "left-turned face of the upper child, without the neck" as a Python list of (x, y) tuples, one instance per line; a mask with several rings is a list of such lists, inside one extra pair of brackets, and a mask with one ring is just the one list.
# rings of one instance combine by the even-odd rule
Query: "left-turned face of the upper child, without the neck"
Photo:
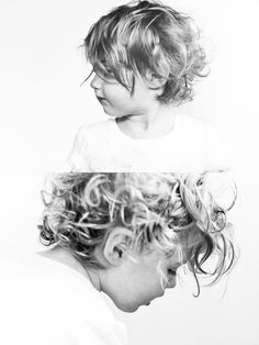
[(102, 77), (95, 74), (91, 87), (106, 114), (114, 118), (145, 114), (157, 103), (154, 90), (150, 90), (144, 79), (135, 77), (134, 93), (124, 88), (113, 77)]

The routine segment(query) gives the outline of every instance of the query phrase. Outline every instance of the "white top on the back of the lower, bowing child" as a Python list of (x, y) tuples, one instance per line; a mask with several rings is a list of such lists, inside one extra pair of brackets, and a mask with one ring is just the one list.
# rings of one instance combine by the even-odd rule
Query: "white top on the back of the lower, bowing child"
[(80, 272), (37, 254), (1, 266), (1, 344), (126, 344), (124, 324)]

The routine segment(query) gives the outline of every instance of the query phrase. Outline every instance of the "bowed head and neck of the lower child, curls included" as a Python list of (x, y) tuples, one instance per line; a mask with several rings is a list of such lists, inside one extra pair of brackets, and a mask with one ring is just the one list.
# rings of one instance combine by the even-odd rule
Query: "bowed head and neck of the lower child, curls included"
[[(217, 281), (235, 259), (225, 234), (227, 210), (215, 203), (209, 177), (59, 174), (46, 194), (40, 226), (42, 243), (53, 248), (42, 255), (85, 272), (93, 288), (125, 312), (174, 288), (184, 264), (199, 294), (200, 276)], [(210, 257), (211, 267), (204, 267)]]

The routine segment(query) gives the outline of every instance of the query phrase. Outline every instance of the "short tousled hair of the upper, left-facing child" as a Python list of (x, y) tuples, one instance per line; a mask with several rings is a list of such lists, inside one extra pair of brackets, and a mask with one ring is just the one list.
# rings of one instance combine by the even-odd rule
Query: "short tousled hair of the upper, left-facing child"
[(136, 75), (162, 80), (160, 103), (192, 100), (194, 80), (207, 75), (193, 20), (159, 1), (113, 9), (92, 25), (83, 47), (97, 74), (113, 76), (132, 94)]

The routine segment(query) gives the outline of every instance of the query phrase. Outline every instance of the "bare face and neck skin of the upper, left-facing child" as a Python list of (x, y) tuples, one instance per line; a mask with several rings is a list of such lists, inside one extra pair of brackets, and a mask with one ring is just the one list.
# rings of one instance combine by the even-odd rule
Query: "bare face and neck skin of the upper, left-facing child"
[[(149, 85), (140, 76), (135, 76), (134, 93), (111, 76), (94, 74), (91, 87), (103, 107), (103, 111), (116, 118), (122, 132), (135, 138), (159, 137), (170, 132), (174, 125), (173, 109), (156, 100), (162, 81), (151, 79)], [(150, 87), (158, 88), (157, 90)]]

